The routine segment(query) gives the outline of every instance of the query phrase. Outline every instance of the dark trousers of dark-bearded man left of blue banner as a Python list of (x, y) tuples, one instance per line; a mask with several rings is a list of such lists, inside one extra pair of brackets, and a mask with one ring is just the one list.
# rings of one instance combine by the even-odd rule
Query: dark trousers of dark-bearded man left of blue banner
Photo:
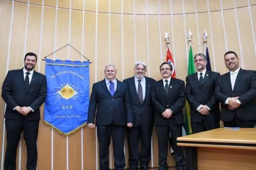
[(5, 151), (4, 170), (16, 170), (16, 154), (21, 131), (24, 130), (24, 140), (27, 145), (27, 170), (37, 169), (37, 139), (39, 120), (5, 119), (7, 146)]

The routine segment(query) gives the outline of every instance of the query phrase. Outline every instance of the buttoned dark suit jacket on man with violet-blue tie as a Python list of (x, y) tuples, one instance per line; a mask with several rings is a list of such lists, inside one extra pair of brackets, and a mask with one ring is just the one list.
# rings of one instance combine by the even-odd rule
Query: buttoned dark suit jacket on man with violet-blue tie
[[(88, 123), (96, 125), (123, 125), (133, 122), (133, 114), (130, 106), (128, 85), (117, 80), (117, 89), (112, 97), (105, 79), (93, 84), (89, 102)], [(97, 109), (96, 109), (97, 108)]]

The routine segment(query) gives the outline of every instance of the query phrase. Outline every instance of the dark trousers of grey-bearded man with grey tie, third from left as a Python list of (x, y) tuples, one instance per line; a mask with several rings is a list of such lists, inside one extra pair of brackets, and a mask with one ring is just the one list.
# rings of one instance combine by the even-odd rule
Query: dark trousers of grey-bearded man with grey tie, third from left
[[(139, 123), (137, 127), (127, 128), (127, 138), (129, 147), (130, 169), (147, 168), (151, 157), (151, 136), (153, 127), (146, 127)], [(140, 153), (139, 153), (140, 139)]]

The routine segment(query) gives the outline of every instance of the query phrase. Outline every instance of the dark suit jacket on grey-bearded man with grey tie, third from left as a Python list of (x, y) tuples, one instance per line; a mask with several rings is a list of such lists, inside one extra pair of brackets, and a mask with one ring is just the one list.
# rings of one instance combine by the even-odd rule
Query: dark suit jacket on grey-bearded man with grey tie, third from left
[[(153, 126), (154, 123), (154, 107), (151, 100), (151, 86), (156, 80), (145, 77), (146, 79), (146, 89), (145, 89), (145, 99), (142, 104), (140, 104), (138, 99), (138, 93), (135, 86), (135, 78), (131, 77), (123, 80), (123, 83), (127, 84), (129, 87), (129, 94), (131, 99), (131, 106), (133, 111), (133, 126), (139, 125), (139, 122), (146, 126)], [(141, 115), (141, 116), (140, 116)], [(140, 119), (141, 117), (141, 119)]]

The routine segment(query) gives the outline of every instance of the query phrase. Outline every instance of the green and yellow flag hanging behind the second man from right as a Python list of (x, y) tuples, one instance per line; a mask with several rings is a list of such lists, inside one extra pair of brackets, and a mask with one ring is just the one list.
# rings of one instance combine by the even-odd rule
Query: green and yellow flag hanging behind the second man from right
[[(194, 59), (193, 59), (193, 51), (190, 45), (189, 59), (188, 59), (188, 75), (191, 75), (195, 72), (196, 71), (195, 71), (195, 65), (194, 65)], [(188, 101), (186, 101), (185, 130), (187, 135), (192, 134), (192, 128), (191, 128), (191, 122), (190, 122), (190, 106)]]

